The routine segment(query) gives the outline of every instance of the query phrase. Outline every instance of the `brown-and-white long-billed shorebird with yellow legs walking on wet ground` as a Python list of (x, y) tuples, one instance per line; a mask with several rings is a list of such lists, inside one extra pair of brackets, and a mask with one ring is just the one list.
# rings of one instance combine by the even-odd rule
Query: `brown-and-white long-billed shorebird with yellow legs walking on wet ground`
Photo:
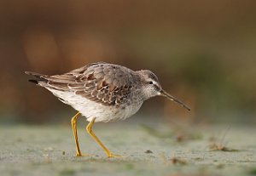
[(168, 94), (160, 86), (158, 77), (149, 70), (133, 71), (122, 65), (96, 62), (61, 75), (47, 76), (32, 71), (25, 73), (32, 77), (29, 82), (48, 89), (61, 102), (78, 111), (71, 118), (75, 156), (90, 156), (82, 154), (79, 148), (79, 116), (84, 116), (89, 122), (86, 131), (105, 151), (106, 156), (120, 157), (108, 150), (96, 137), (92, 131), (95, 122), (125, 120), (134, 115), (145, 100), (155, 96), (164, 96), (190, 111), (189, 106)]

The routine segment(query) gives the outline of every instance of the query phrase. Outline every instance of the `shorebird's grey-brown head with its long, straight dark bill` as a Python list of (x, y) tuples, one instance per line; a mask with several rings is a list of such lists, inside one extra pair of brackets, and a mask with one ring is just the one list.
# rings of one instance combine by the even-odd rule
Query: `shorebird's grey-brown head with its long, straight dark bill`
[(171, 94), (166, 93), (166, 91), (160, 86), (158, 78), (152, 71), (142, 70), (137, 72), (142, 79), (143, 94), (145, 99), (149, 99), (154, 96), (164, 96), (176, 102), (177, 104), (182, 105), (183, 108), (190, 111), (190, 108), (187, 105), (184, 105), (182, 101), (176, 99)]

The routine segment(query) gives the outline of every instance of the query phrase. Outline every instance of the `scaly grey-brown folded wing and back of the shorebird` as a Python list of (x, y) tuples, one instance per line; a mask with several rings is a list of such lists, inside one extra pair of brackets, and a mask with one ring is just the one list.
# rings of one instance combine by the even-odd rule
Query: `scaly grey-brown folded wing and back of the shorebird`
[[(129, 97), (133, 85), (131, 70), (119, 65), (95, 63), (63, 75), (43, 77), (44, 87), (72, 91), (103, 105), (120, 105)], [(138, 77), (137, 77), (138, 79)]]

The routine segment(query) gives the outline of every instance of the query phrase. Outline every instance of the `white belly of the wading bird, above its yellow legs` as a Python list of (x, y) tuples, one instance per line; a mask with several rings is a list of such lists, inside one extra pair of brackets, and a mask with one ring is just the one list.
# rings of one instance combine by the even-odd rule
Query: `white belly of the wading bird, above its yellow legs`
[(131, 105), (120, 105), (117, 107), (115, 105), (96, 103), (73, 92), (61, 92), (57, 90), (51, 90), (51, 92), (59, 97), (63, 103), (71, 105), (75, 110), (79, 111), (89, 122), (93, 118), (96, 118), (95, 122), (125, 120), (135, 114), (143, 104), (133, 103)]

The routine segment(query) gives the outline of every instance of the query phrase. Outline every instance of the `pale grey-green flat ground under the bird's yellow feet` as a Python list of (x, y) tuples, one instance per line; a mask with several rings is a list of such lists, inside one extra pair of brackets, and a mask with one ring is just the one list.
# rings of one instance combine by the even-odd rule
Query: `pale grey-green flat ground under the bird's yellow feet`
[(102, 142), (121, 158), (107, 158), (79, 126), (75, 157), (68, 125), (1, 126), (0, 175), (256, 175), (256, 128), (170, 128), (96, 124)]

